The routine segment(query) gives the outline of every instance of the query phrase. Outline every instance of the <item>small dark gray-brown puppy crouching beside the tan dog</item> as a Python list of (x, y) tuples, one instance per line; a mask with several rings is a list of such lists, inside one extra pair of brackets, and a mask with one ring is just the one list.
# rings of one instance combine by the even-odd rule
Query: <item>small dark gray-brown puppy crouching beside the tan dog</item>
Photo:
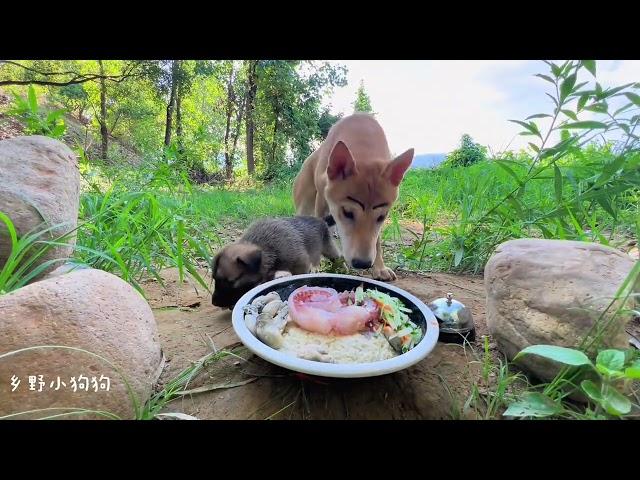
[(309, 273), (322, 256), (340, 252), (327, 221), (316, 217), (265, 218), (252, 223), (240, 240), (213, 259), (215, 290), (211, 302), (232, 308), (242, 295), (274, 278)]

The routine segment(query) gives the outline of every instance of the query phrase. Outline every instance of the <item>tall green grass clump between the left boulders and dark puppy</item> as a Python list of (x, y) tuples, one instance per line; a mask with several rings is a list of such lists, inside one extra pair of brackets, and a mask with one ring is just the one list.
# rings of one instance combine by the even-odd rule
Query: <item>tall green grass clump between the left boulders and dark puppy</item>
[(79, 228), (76, 258), (118, 274), (140, 292), (139, 282), (147, 276), (162, 284), (159, 272), (168, 267), (178, 269), (180, 280), (188, 274), (208, 290), (198, 267), (209, 265), (211, 254), (194, 234), (195, 227), (188, 227), (187, 209), (188, 205), (171, 205), (153, 191), (111, 187), (104, 194), (85, 194), (81, 215), (91, 221)]

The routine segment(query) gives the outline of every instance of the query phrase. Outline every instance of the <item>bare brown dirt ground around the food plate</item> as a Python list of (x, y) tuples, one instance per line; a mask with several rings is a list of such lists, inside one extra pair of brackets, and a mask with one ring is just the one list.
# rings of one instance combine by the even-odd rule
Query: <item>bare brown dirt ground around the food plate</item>
[[(165, 287), (144, 284), (158, 323), (167, 368), (160, 383), (191, 362), (238, 344), (231, 312), (211, 305), (209, 294), (183, 280), (175, 270)], [(449, 419), (462, 415), (471, 386), (480, 375), (482, 336), (487, 334), (482, 277), (399, 272), (395, 283), (425, 302), (447, 292), (473, 312), (477, 337), (473, 349), (438, 343), (419, 364), (404, 371), (366, 379), (302, 376), (271, 365), (244, 347), (207, 368), (189, 389), (215, 387), (169, 404), (167, 412), (199, 419)], [(497, 354), (491, 345), (493, 354)], [(472, 350), (475, 350), (475, 354)]]

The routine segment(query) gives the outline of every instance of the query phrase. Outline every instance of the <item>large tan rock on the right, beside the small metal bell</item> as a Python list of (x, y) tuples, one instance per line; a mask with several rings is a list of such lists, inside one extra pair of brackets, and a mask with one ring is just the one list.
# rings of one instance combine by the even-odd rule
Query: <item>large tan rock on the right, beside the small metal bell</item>
[[(633, 265), (628, 255), (594, 243), (505, 242), (484, 272), (489, 332), (509, 359), (529, 345), (577, 347)], [(630, 318), (618, 317), (606, 346), (628, 348), (624, 327)], [(518, 365), (545, 381), (558, 372), (557, 364), (533, 355)]]

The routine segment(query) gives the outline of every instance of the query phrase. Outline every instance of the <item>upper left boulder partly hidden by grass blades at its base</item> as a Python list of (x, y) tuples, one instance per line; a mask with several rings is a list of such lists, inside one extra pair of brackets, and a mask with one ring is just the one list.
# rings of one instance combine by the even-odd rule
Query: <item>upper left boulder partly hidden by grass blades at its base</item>
[[(11, 218), (18, 235), (61, 224), (49, 239), (73, 230), (79, 195), (77, 157), (65, 144), (43, 136), (0, 141), (0, 211)], [(69, 246), (52, 248), (37, 264), (69, 257), (74, 242), (71, 238)], [(10, 252), (7, 229), (0, 222), (0, 268)]]

